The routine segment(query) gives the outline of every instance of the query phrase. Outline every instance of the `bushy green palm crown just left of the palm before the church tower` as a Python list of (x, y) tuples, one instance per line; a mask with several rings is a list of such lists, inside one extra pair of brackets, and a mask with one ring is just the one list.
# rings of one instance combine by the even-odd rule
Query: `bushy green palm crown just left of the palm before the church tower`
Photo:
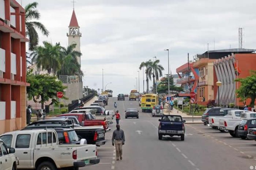
[(30, 54), (31, 62), (37, 64), (38, 70), (47, 70), (48, 73), (56, 72), (60, 69), (60, 44), (53, 46), (51, 43), (43, 41), (44, 46), (36, 46)]

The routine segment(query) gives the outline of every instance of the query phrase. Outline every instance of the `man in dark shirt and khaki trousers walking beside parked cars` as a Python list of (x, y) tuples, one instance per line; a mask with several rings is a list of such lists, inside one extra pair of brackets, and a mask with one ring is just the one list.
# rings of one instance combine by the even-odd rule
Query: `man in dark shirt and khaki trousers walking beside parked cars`
[(123, 159), (123, 145), (125, 142), (124, 131), (120, 129), (120, 125), (116, 125), (116, 130), (113, 131), (112, 145), (116, 146), (116, 160)]

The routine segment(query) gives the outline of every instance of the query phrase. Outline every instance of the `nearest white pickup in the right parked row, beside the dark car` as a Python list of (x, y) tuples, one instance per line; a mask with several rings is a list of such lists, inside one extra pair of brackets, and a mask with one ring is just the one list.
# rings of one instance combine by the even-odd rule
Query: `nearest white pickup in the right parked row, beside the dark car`
[(238, 126), (242, 119), (256, 118), (256, 112), (243, 111), (240, 115), (240, 119), (220, 119), (219, 129), (229, 131), (232, 137), (238, 137)]

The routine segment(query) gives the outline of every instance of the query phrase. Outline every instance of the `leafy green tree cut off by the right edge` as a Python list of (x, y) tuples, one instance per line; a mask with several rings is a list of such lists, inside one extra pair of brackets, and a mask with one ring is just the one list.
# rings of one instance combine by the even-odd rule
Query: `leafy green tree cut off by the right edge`
[(237, 97), (241, 101), (245, 101), (248, 98), (251, 99), (249, 106), (253, 107), (256, 99), (256, 71), (251, 71), (251, 76), (236, 79), (235, 81), (241, 83), (240, 87), (236, 90)]

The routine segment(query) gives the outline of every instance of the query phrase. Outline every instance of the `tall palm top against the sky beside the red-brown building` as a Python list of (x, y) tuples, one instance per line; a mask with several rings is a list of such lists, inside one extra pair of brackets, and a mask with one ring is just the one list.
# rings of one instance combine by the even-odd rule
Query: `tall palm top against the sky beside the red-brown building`
[[(25, 16), (25, 23), (26, 23), (26, 35), (29, 37), (29, 50), (33, 51), (35, 46), (38, 45), (38, 33), (37, 29), (39, 29), (43, 35), (48, 36), (49, 31), (45, 28), (45, 26), (37, 21), (40, 19), (40, 13), (38, 12), (37, 8), (38, 3), (33, 2), (27, 4), (25, 7), (26, 16)], [(31, 21), (33, 20), (33, 21)]]

